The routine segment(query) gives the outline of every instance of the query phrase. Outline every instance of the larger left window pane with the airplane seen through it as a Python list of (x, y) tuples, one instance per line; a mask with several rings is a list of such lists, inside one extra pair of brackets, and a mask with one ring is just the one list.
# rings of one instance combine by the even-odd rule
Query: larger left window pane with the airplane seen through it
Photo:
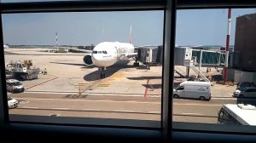
[[(163, 10), (2, 20), (5, 70), (25, 89), (7, 93), (20, 101), (10, 121), (160, 129)], [(138, 47), (150, 56), (137, 57)]]

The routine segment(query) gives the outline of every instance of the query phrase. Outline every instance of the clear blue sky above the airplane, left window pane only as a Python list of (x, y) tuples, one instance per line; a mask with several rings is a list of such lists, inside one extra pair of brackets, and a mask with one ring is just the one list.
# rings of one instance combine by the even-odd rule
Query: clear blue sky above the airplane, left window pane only
[(160, 45), (163, 11), (3, 14), (3, 41), (9, 44), (90, 45), (103, 41)]

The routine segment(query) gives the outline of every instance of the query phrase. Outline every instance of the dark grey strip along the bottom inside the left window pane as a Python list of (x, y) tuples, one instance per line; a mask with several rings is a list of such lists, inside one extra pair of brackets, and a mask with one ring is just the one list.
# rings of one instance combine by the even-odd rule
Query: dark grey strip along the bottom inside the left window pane
[(9, 115), (10, 121), (19, 123), (44, 123), (44, 124), (72, 124), (88, 126), (117, 126), (127, 128), (151, 128), (160, 129), (160, 121), (153, 120), (135, 120), (119, 118), (99, 118), (99, 117), (47, 117), (32, 115)]

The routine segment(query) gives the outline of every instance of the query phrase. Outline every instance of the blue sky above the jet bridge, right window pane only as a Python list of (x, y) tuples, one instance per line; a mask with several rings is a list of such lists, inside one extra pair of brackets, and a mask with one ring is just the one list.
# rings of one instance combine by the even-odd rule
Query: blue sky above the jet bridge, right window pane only
[[(230, 44), (235, 43), (236, 17), (255, 14), (255, 9), (231, 9)], [(177, 11), (177, 45), (225, 45), (228, 9)]]

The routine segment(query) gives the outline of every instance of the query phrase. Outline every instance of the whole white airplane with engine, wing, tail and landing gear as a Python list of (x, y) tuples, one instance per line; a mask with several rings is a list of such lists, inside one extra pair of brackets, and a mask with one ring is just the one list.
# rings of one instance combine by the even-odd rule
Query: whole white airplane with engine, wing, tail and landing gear
[[(113, 66), (119, 60), (128, 60), (131, 57), (136, 57), (135, 47), (131, 44), (131, 31), (129, 43), (119, 42), (102, 42), (98, 43), (93, 50), (78, 49), (85, 51), (88, 54), (84, 55), (84, 64), (86, 66), (97, 66), (102, 70), (101, 78), (105, 78), (105, 70), (108, 66)], [(139, 63), (134, 63), (134, 66), (139, 66)]]

